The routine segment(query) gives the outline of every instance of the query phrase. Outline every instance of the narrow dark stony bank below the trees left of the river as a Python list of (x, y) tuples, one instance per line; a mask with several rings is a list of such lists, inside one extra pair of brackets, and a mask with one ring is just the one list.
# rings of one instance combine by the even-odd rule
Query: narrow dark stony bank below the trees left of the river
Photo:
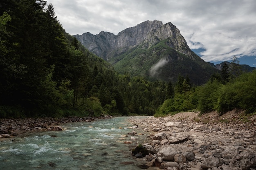
[(0, 138), (25, 135), (28, 132), (63, 130), (61, 124), (80, 121), (93, 121), (106, 117), (63, 117), (63, 118), (26, 118), (26, 119), (0, 119)]

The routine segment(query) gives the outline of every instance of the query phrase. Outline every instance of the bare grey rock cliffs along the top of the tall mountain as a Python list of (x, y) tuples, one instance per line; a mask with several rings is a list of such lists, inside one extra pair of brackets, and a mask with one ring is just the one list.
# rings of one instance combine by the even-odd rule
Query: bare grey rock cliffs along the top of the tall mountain
[[(171, 22), (163, 24), (161, 21), (145, 21), (137, 26), (130, 27), (117, 35), (113, 33), (101, 31), (98, 35), (91, 33), (83, 33), (82, 35), (74, 35), (89, 51), (109, 60), (113, 55), (118, 55), (144, 43), (145, 48), (170, 38), (168, 44), (176, 51), (191, 56), (189, 46), (186, 40), (180, 34), (180, 30)], [(115, 54), (113, 54), (115, 51)]]

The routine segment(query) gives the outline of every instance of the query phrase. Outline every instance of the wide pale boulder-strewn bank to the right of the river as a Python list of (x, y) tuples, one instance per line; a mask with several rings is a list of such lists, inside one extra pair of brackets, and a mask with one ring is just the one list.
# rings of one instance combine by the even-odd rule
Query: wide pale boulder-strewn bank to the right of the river
[(130, 119), (148, 132), (142, 144), (148, 155), (133, 154), (142, 169), (256, 170), (255, 116), (237, 110), (217, 113), (178, 113), (169, 117)]

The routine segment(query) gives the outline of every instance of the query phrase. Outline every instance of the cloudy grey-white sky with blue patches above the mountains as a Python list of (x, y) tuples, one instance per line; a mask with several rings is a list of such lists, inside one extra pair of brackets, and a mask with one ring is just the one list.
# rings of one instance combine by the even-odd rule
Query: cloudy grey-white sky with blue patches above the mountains
[(120, 31), (146, 20), (173, 23), (204, 61), (256, 67), (256, 0), (47, 0), (71, 35)]

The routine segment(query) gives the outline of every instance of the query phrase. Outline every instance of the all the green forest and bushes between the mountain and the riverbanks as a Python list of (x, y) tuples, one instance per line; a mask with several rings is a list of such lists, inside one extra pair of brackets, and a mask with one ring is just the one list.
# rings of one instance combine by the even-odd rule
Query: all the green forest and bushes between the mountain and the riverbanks
[(65, 32), (44, 0), (1, 0), (0, 118), (256, 111), (256, 71), (234, 57), (202, 86), (117, 73)]

